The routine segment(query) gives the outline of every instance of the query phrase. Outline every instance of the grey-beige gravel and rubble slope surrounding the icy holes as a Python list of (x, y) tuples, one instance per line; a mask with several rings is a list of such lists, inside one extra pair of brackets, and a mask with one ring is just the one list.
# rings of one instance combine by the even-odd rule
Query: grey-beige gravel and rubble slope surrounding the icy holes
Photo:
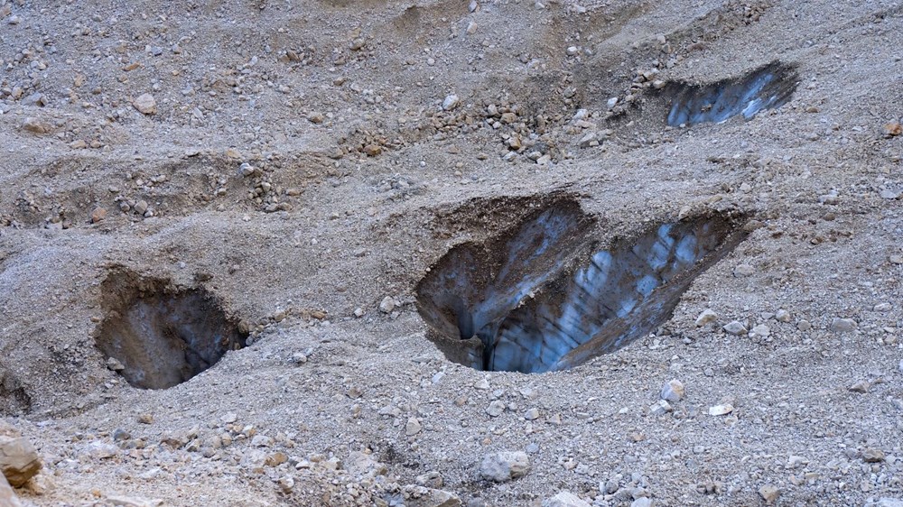
[[(903, 501), (899, 2), (0, 0), (0, 18), (0, 415), (44, 460), (23, 502), (400, 504), (418, 481), (466, 505)], [(666, 124), (675, 90), (773, 62), (796, 72), (783, 106)], [(561, 199), (598, 248), (710, 215), (750, 232), (612, 354), (450, 361), (417, 284)], [(247, 346), (130, 385), (105, 323), (201, 290)], [(684, 399), (658, 415), (672, 379)], [(496, 451), (529, 473), (481, 479)]]

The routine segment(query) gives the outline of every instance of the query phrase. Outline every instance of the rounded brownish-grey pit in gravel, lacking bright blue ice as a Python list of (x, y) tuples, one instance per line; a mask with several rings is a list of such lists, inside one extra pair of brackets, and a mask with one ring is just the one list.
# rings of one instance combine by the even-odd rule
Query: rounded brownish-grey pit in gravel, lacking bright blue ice
[(247, 333), (202, 288), (176, 290), (127, 272), (107, 277), (102, 290), (107, 318), (98, 349), (135, 387), (183, 383), (246, 345)]

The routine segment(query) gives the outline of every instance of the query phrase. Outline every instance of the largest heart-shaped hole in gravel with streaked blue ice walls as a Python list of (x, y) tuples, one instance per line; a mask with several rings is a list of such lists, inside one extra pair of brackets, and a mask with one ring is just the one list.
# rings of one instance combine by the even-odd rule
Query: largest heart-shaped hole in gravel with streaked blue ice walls
[(728, 217), (698, 217), (598, 249), (572, 201), (515, 229), (455, 246), (417, 286), (427, 336), (454, 362), (542, 373), (613, 352), (670, 318), (694, 278), (743, 237)]

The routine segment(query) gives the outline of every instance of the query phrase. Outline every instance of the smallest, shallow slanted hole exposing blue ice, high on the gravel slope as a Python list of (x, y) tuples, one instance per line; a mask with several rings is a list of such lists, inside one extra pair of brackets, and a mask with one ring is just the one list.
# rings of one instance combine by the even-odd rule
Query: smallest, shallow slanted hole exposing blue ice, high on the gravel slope
[(763, 109), (786, 104), (797, 84), (793, 67), (777, 61), (711, 85), (672, 83), (666, 90), (672, 96), (667, 124), (721, 123), (736, 115), (749, 120)]

